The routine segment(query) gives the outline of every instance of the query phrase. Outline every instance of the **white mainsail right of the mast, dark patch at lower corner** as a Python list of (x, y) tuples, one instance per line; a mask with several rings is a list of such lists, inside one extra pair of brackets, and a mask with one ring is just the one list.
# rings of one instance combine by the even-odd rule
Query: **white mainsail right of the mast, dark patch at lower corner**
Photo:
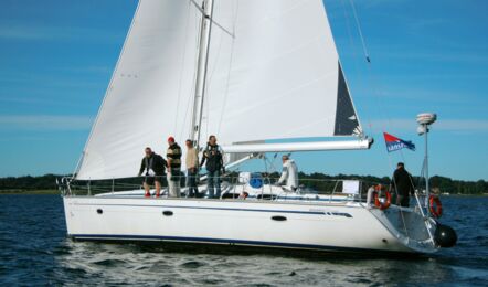
[(322, 1), (214, 1), (212, 18), (224, 29), (212, 28), (203, 135), (232, 145), (353, 134)]

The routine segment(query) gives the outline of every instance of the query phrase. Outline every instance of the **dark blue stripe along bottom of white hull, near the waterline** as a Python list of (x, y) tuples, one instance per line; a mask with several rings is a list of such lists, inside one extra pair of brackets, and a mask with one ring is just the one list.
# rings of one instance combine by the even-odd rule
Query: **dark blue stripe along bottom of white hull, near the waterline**
[(349, 252), (349, 253), (384, 253), (384, 254), (413, 254), (409, 252), (395, 252), (384, 249), (369, 249), (356, 247), (339, 247), (315, 244), (283, 243), (283, 242), (261, 242), (261, 241), (241, 241), (241, 240), (221, 240), (206, 237), (180, 237), (180, 236), (159, 236), (159, 235), (112, 235), (112, 234), (70, 234), (75, 240), (92, 241), (166, 241), (180, 243), (206, 243), (206, 244), (229, 244), (229, 245), (247, 245), (256, 247), (275, 247), (275, 248), (293, 248), (293, 249), (315, 249), (325, 252)]

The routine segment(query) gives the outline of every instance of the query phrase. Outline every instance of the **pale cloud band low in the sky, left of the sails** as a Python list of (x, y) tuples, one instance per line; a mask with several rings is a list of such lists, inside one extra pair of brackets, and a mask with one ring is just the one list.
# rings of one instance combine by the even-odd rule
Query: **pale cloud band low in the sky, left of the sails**
[(0, 130), (86, 130), (93, 116), (9, 115), (0, 116)]

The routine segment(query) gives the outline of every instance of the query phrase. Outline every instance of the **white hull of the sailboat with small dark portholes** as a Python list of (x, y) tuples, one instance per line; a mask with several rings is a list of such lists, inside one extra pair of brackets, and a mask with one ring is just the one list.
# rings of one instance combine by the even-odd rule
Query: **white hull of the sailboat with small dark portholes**
[[(65, 196), (67, 233), (79, 240), (165, 241), (295, 249), (431, 253), (436, 247), (412, 210), (358, 202)], [(407, 220), (409, 221), (409, 220)], [(404, 222), (404, 221), (403, 221)], [(416, 236), (413, 238), (412, 236)]]

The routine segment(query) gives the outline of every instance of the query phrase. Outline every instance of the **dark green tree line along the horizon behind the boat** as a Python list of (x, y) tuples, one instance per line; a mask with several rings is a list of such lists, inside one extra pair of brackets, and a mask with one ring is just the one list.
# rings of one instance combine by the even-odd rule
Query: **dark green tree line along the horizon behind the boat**
[[(65, 176), (56, 176), (56, 174), (45, 174), (40, 177), (7, 177), (0, 178), (0, 191), (31, 191), (31, 190), (55, 190), (56, 179), (60, 180)], [(236, 178), (237, 173), (231, 173), (231, 178)], [(279, 173), (274, 172), (266, 174), (267, 178), (272, 179), (272, 182), (279, 178)], [(316, 190), (332, 190), (333, 182), (337, 180), (360, 180), (365, 182), (367, 184), (376, 184), (382, 183), (389, 185), (391, 183), (391, 179), (389, 177), (373, 177), (373, 176), (347, 176), (347, 174), (338, 174), (338, 176), (328, 176), (325, 173), (312, 172), (312, 173), (304, 173), (299, 172), (300, 183), (306, 188), (311, 188)], [(131, 184), (140, 184), (140, 178), (130, 178), (124, 180), (124, 183)], [(112, 180), (103, 181), (106, 185), (112, 184)], [(449, 194), (484, 194), (488, 193), (488, 181), (478, 180), (478, 181), (464, 181), (464, 180), (454, 180), (446, 177), (434, 176), (429, 180), (431, 187), (433, 190), (437, 190), (441, 193), (449, 193)], [(414, 177), (414, 184), (422, 185), (425, 184), (420, 177)]]

